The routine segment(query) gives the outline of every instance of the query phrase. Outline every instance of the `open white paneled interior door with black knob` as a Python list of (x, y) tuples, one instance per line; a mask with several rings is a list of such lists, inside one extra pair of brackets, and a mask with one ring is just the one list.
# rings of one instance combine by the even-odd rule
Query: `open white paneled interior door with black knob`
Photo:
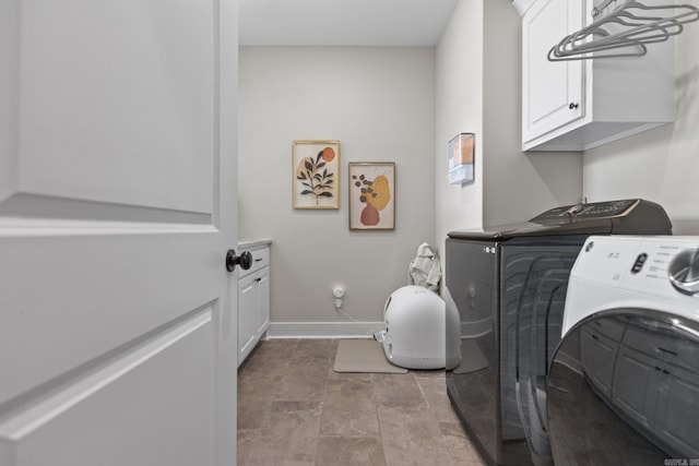
[(234, 465), (236, 0), (0, 0), (0, 465)]

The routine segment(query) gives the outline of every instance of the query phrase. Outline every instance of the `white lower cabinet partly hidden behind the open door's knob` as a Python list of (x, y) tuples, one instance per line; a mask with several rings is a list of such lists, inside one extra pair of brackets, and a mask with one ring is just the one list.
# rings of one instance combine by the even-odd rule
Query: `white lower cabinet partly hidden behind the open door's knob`
[(252, 265), (238, 275), (238, 366), (270, 325), (270, 247), (244, 247), (244, 251), (252, 254)]

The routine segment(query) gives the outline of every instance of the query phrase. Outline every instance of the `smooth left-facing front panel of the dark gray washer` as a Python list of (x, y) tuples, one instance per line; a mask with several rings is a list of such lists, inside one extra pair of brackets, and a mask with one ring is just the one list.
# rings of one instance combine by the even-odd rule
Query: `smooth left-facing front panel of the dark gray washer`
[(447, 371), (447, 393), (487, 464), (526, 466), (530, 452), (512, 405), (502, 416), (500, 253), (495, 241), (447, 239), (446, 286), (459, 310), (462, 355)]

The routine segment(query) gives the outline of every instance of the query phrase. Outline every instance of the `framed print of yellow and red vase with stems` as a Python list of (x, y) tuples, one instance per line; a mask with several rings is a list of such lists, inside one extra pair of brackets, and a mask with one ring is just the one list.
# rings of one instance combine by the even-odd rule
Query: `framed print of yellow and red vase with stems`
[(348, 164), (350, 229), (395, 229), (395, 163)]

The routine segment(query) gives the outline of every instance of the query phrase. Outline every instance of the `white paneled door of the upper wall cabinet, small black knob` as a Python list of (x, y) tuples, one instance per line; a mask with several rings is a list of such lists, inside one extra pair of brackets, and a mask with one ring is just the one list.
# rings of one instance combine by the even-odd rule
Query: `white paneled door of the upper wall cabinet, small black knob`
[(581, 61), (548, 61), (548, 51), (583, 25), (580, 0), (540, 0), (522, 19), (522, 141), (585, 115)]

